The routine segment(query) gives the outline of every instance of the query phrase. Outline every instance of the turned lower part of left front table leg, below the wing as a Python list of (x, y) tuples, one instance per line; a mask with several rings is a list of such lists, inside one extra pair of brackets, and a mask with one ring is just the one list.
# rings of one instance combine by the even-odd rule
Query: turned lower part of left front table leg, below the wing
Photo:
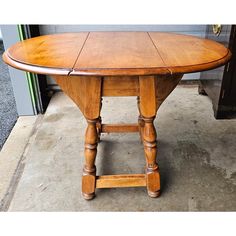
[[(99, 118), (98, 118), (99, 119)], [(82, 177), (82, 194), (86, 200), (95, 197), (96, 166), (98, 134), (96, 124), (98, 119), (87, 119), (88, 126), (85, 133), (85, 165)]]

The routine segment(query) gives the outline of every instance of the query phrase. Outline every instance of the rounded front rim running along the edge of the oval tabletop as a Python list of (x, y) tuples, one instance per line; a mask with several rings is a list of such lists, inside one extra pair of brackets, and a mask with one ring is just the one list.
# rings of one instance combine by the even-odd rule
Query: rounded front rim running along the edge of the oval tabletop
[(174, 67), (150, 67), (150, 68), (52, 68), (52, 67), (40, 67), (37, 65), (30, 65), (13, 59), (8, 50), (3, 53), (3, 60), (8, 65), (28, 71), (36, 74), (46, 75), (87, 75), (87, 76), (137, 76), (137, 75), (167, 75), (167, 74), (187, 74), (201, 72), (205, 70), (211, 70), (223, 66), (226, 64), (232, 56), (232, 53), (227, 49), (227, 54), (215, 61), (187, 65), (187, 66), (174, 66)]

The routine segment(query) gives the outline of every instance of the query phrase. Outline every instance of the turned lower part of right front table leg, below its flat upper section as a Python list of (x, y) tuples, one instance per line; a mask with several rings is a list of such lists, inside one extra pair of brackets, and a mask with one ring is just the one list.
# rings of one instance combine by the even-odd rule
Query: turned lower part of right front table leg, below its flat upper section
[(143, 145), (146, 158), (146, 181), (147, 191), (150, 197), (158, 197), (160, 195), (160, 174), (157, 156), (156, 130), (153, 124), (155, 117), (144, 118), (143, 128)]

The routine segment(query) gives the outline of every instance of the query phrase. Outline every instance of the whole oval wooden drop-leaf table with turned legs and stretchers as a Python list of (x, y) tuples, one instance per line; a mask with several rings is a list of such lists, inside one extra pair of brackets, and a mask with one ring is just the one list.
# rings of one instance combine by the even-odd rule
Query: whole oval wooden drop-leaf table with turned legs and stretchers
[[(224, 65), (231, 53), (211, 40), (160, 32), (81, 32), (35, 37), (16, 43), (3, 55), (12, 67), (51, 75), (87, 120), (82, 194), (96, 188), (146, 186), (160, 194), (153, 121), (162, 102), (183, 74)], [(103, 124), (103, 96), (137, 96), (135, 124)], [(139, 132), (144, 146), (145, 174), (96, 176), (100, 133)]]

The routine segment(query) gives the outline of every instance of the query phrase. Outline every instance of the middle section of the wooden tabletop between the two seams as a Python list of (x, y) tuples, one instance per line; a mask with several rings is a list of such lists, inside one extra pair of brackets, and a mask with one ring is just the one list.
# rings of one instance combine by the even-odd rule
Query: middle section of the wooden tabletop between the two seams
[[(73, 74), (82, 71), (159, 68), (165, 64), (145, 32), (90, 33), (76, 61)], [(104, 72), (103, 72), (104, 73)], [(116, 73), (117, 74), (117, 73)]]

